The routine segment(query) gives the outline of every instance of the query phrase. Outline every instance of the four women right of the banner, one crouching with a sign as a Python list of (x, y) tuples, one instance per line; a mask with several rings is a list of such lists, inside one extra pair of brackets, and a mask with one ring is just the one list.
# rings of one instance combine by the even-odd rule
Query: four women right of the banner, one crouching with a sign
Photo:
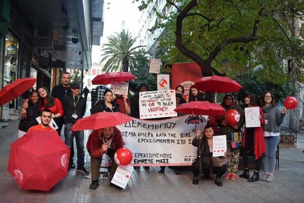
[[(196, 91), (191, 90), (194, 94)], [(260, 105), (258, 106), (256, 96), (253, 92), (248, 92), (245, 95), (244, 103), (246, 107), (259, 108), (260, 127), (246, 127), (244, 126), (242, 154), (244, 162), (244, 172), (239, 175), (240, 178), (248, 179), (248, 182), (259, 181), (259, 170), (263, 165), (264, 175), (262, 181), (272, 182), (274, 180), (274, 172), (276, 165), (276, 149), (280, 138), (280, 126), (286, 115), (286, 108), (281, 110), (277, 107), (275, 97), (272, 92), (266, 91), (262, 94)], [(241, 128), (245, 123), (245, 114), (242, 108), (236, 104), (232, 94), (226, 94), (223, 98), (221, 106), (229, 111), (235, 109), (240, 113), (239, 122), (231, 126), (225, 120), (225, 115), (218, 120), (219, 133), (215, 133), (214, 127), (206, 125), (204, 132), (198, 130), (196, 137), (193, 139), (193, 146), (198, 147), (198, 161), (193, 163), (193, 184), (199, 183), (199, 173), (203, 173), (203, 179), (211, 179), (210, 173), (215, 174), (215, 184), (222, 186), (220, 177), (225, 174), (224, 179), (237, 179), (237, 171), (240, 160), (240, 149), (232, 147), (230, 140), (231, 132), (241, 132)], [(204, 134), (201, 137), (201, 134)], [(221, 167), (213, 167), (212, 156), (212, 136), (226, 135), (227, 151), (225, 156), (228, 162)], [(250, 178), (249, 174), (249, 152), (253, 150), (255, 157), (255, 168), (253, 176)]]

